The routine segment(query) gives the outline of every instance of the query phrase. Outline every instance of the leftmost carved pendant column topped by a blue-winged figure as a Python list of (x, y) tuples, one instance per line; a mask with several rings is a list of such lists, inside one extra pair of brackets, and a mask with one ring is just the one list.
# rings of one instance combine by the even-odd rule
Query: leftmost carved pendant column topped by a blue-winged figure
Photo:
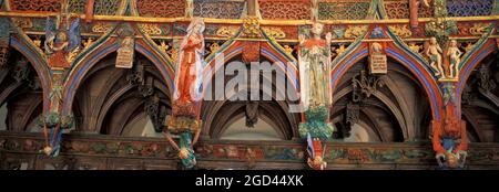
[(64, 75), (71, 63), (81, 51), (80, 18), (71, 20), (68, 1), (61, 1), (61, 12), (55, 28), (52, 20), (47, 19), (45, 54), (52, 71), (49, 97), (49, 109), (40, 122), (44, 127), (47, 156), (57, 157), (60, 151), (63, 129), (72, 127), (74, 118), (71, 114), (62, 114)]

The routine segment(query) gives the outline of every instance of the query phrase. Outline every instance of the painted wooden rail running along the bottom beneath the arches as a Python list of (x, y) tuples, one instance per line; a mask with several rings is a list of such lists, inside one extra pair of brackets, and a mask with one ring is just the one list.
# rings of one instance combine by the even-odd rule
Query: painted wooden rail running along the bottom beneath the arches
[[(0, 131), (2, 169), (177, 169), (163, 138), (65, 135), (58, 158), (40, 134)], [(198, 169), (306, 169), (305, 142), (200, 140)], [(436, 169), (429, 142), (327, 142), (328, 169)], [(466, 169), (499, 169), (499, 143), (470, 143)]]

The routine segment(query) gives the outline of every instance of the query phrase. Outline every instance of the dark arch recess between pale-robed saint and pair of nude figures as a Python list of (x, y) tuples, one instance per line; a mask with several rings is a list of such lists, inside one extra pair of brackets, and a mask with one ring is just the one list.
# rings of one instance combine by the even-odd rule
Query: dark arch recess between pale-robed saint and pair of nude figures
[[(430, 104), (418, 78), (394, 58), (386, 75), (369, 74), (367, 58), (355, 63), (333, 94), (336, 138), (349, 139), (353, 127), (367, 129), (369, 140), (427, 140)], [(348, 140), (347, 139), (347, 140)]]

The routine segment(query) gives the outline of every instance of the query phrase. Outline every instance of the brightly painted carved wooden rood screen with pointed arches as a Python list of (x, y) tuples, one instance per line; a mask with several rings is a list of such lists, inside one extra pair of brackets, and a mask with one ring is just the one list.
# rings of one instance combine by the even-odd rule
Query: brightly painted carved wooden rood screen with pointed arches
[(498, 20), (496, 0), (3, 0), (0, 169), (499, 169)]

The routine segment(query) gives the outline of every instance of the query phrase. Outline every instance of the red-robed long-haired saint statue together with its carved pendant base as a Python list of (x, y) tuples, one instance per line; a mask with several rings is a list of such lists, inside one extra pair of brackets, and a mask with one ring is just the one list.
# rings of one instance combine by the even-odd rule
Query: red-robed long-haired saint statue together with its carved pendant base
[[(201, 95), (201, 73), (204, 62), (203, 31), (203, 19), (193, 18), (187, 28), (187, 34), (179, 49), (173, 113), (172, 117), (166, 117), (169, 130), (163, 132), (169, 142), (179, 151), (179, 158), (187, 169), (192, 169), (196, 164), (193, 146), (201, 132), (194, 102), (200, 99)], [(179, 135), (179, 145), (172, 139), (170, 131)]]

